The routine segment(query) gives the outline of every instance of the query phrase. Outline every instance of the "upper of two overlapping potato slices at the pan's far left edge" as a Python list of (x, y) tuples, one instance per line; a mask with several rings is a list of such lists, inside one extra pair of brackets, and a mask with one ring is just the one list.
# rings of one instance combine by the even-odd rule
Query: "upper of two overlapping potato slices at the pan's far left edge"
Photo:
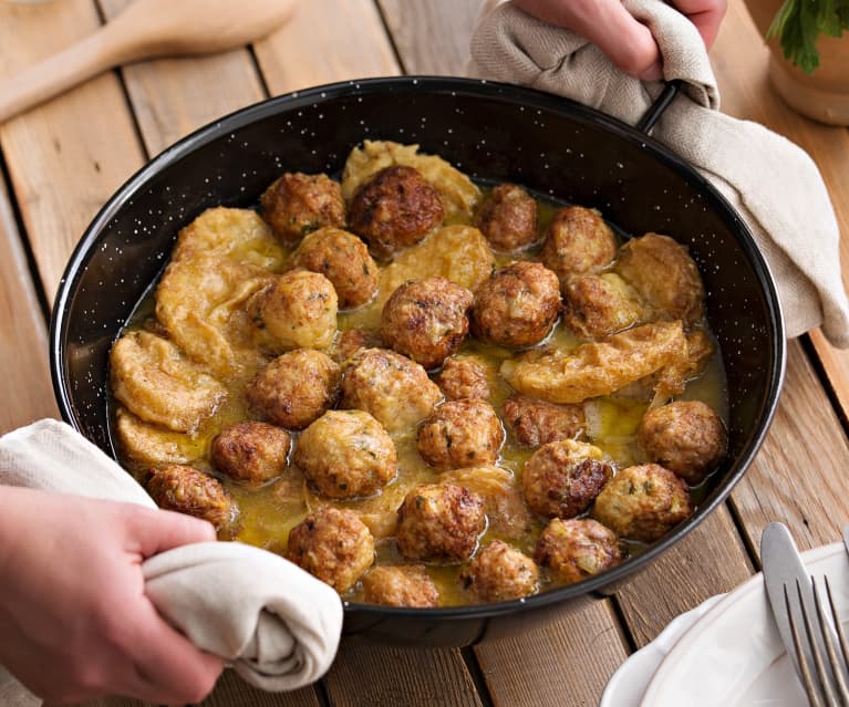
[(148, 332), (118, 339), (110, 352), (115, 398), (147, 423), (194, 432), (227, 396), (172, 342)]

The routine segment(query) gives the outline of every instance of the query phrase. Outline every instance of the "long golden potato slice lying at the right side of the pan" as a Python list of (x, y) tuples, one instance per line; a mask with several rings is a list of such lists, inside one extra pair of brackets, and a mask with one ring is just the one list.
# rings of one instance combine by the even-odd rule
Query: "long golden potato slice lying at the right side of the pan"
[(510, 358), (501, 364), (501, 375), (525, 395), (580, 403), (609, 395), (686, 354), (682, 323), (654, 322), (573, 351), (542, 350)]

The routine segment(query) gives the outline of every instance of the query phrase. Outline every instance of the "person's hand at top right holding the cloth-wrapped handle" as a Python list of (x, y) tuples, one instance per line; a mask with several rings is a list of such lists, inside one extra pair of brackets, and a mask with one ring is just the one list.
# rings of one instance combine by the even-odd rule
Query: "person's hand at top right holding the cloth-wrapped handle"
[[(643, 81), (663, 76), (660, 50), (648, 27), (622, 7), (621, 0), (514, 0), (528, 14), (578, 32), (597, 44), (622, 71)], [(680, 12), (695, 24), (711, 49), (727, 0), (673, 0)]]

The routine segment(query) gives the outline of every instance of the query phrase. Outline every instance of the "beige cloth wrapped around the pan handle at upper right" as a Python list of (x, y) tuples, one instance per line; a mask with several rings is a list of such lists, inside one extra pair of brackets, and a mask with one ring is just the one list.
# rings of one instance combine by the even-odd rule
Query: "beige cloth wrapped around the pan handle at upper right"
[[(652, 137), (694, 165), (743, 216), (776, 280), (787, 335), (822, 326), (832, 344), (849, 346), (840, 232), (816, 165), (763, 125), (719, 113), (707, 51), (683, 14), (663, 0), (623, 4), (651, 29), (664, 79), (686, 84)], [(598, 46), (511, 2), (485, 3), (470, 50), (473, 76), (557, 93), (631, 125), (663, 87), (620, 71)]]

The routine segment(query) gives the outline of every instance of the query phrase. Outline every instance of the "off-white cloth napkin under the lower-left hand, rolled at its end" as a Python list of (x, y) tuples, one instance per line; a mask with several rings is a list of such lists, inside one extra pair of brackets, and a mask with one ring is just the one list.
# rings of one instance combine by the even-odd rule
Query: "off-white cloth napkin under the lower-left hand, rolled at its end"
[[(0, 437), (0, 484), (156, 508), (115, 461), (53, 419)], [(339, 595), (277, 554), (201, 542), (149, 558), (143, 572), (159, 614), (257, 687), (296, 689), (333, 662), (342, 630)]]

